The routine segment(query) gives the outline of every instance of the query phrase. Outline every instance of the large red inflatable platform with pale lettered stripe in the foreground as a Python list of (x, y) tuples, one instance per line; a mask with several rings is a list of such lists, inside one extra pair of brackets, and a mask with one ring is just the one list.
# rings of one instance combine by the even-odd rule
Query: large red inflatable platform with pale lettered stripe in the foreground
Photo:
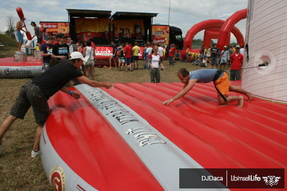
[(70, 88), (81, 93), (79, 100), (61, 91), (50, 98), (40, 148), (53, 188), (182, 190), (180, 168), (286, 172), (285, 105), (245, 98), (242, 108), (220, 106), (213, 83), (207, 83), (164, 106), (182, 83), (114, 86), (81, 84)]

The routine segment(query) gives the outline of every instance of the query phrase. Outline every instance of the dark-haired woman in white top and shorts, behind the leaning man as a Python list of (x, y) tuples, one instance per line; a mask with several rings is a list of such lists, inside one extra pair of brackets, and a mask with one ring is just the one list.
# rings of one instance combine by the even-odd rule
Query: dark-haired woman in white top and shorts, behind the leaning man
[(95, 56), (95, 49), (92, 46), (91, 40), (87, 40), (86, 47), (83, 49), (83, 56), (88, 60), (91, 57), (91, 63), (84, 63), (85, 67), (85, 76), (89, 78), (89, 70), (91, 70), (92, 80), (95, 80), (95, 71), (94, 71), (94, 56)]

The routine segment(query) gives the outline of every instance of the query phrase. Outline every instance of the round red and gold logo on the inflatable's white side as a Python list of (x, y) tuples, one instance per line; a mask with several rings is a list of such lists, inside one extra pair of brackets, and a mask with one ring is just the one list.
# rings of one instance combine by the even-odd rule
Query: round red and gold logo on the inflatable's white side
[(50, 182), (53, 190), (64, 191), (65, 190), (65, 173), (62, 167), (54, 166), (50, 171)]

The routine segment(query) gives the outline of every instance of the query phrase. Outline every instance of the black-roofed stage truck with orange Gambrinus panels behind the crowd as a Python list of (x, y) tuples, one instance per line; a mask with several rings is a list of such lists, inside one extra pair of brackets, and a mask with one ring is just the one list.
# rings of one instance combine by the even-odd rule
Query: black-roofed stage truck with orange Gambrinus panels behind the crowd
[[(183, 46), (182, 31), (168, 25), (153, 25), (153, 18), (157, 13), (132, 13), (97, 10), (66, 9), (68, 12), (68, 30), (60, 31), (70, 36), (74, 43), (82, 39), (90, 39), (95, 43), (95, 64), (106, 65), (112, 56), (111, 41), (116, 45), (119, 42), (134, 45), (141, 49), (139, 58), (142, 58), (143, 45), (147, 42), (160, 43), (163, 47), (173, 43), (181, 50)], [(56, 22), (40, 22), (43, 26), (52, 26)], [(60, 29), (60, 27), (58, 27)], [(50, 29), (48, 28), (48, 31)], [(54, 32), (54, 30), (53, 30)]]

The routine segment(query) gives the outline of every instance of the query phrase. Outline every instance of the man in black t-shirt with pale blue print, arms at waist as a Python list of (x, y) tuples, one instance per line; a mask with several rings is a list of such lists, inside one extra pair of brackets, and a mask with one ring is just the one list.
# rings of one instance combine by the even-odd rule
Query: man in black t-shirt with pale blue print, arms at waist
[(59, 34), (59, 43), (54, 44), (52, 50), (52, 58), (56, 58), (58, 60), (67, 59), (69, 57), (69, 46), (66, 44), (66, 36), (65, 34)]

